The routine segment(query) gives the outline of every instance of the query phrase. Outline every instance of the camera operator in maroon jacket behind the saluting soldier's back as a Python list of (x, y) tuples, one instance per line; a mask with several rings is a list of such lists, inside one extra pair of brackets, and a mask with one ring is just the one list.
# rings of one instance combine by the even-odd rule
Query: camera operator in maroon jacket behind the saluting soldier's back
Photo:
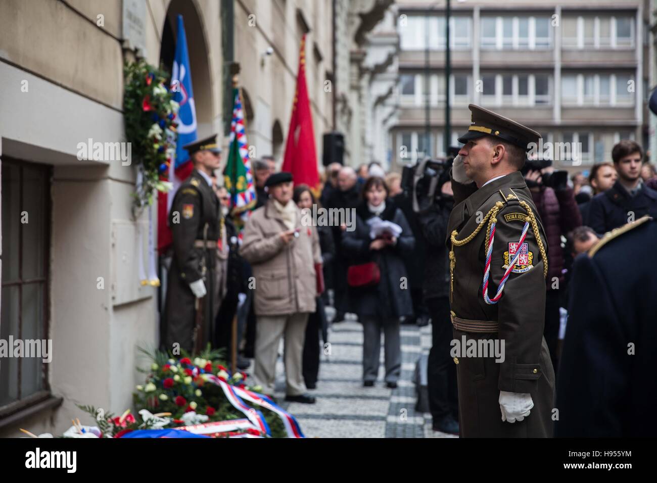
[(541, 217), (547, 237), (550, 264), (545, 294), (545, 342), (550, 350), (552, 365), (557, 370), (560, 294), (563, 288), (564, 250), (561, 236), (581, 226), (581, 214), (572, 188), (568, 187), (568, 172), (555, 171), (549, 160), (527, 160), (522, 170), (533, 202)]

